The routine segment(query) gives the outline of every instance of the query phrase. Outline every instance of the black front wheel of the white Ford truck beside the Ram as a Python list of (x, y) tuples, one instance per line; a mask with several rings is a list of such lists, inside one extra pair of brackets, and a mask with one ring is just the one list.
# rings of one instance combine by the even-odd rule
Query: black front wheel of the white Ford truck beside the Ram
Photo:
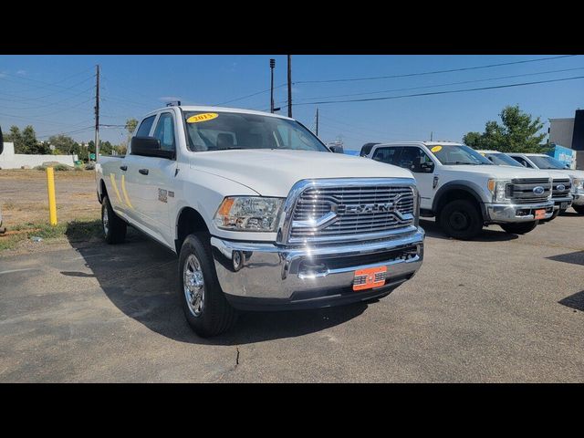
[(464, 199), (444, 205), (438, 221), (446, 235), (460, 240), (471, 240), (483, 229), (481, 212)]

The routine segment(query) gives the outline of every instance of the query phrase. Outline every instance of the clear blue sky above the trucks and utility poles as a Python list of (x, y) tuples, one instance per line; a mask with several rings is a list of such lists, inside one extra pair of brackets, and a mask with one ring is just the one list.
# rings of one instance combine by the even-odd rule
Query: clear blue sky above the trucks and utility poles
[[(422, 141), (431, 135), (434, 141), (461, 141), (466, 132), (482, 132), (487, 120), (499, 120), (500, 111), (515, 104), (540, 117), (547, 131), (548, 119), (572, 118), (584, 108), (584, 78), (400, 96), (584, 77), (584, 56), (559, 56), (293, 55), (292, 115), (314, 130), (318, 108), (319, 138), (341, 140), (349, 150), (369, 141)], [(555, 58), (542, 60), (547, 57)], [(125, 120), (140, 119), (169, 99), (269, 110), (270, 58), (276, 59), (276, 107), (287, 115), (286, 55), (0, 56), (0, 127), (7, 131), (11, 125), (31, 124), (40, 140), (58, 133), (92, 140), (98, 64), (100, 123), (114, 125), (100, 128), (102, 141), (125, 141)], [(534, 59), (539, 60), (519, 63)], [(516, 64), (485, 68), (504, 63)], [(453, 69), (458, 71), (441, 72)], [(393, 99), (312, 103), (388, 97)]]

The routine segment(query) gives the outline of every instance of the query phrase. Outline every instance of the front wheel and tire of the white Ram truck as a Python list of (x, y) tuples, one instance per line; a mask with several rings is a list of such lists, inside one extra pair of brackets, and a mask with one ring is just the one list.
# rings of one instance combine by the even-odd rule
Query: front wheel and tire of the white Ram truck
[(217, 336), (235, 325), (237, 314), (217, 280), (207, 235), (188, 235), (184, 239), (179, 278), (184, 316), (197, 335)]

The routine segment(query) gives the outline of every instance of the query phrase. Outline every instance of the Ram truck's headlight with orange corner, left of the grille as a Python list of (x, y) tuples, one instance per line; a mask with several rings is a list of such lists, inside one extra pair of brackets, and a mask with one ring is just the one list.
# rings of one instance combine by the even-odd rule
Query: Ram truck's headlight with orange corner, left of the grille
[(275, 232), (283, 198), (228, 196), (214, 215), (222, 230)]

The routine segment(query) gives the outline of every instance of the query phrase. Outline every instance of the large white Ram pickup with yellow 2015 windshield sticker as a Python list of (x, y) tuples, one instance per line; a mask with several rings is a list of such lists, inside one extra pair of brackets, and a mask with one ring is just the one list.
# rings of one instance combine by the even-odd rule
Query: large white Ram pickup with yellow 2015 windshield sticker
[(236, 308), (383, 297), (422, 265), (412, 172), (332, 153), (286, 117), (155, 110), (127, 155), (96, 170), (106, 240), (130, 224), (179, 255), (184, 314), (201, 336), (230, 328)]

